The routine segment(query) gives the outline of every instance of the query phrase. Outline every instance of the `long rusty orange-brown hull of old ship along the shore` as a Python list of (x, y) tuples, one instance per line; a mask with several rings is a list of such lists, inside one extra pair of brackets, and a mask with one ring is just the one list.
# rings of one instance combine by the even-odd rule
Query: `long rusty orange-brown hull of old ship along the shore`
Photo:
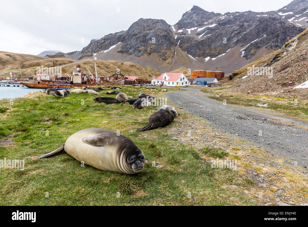
[(59, 85), (60, 88), (69, 88), (69, 87), (83, 87), (83, 86), (108, 86), (108, 85), (124, 85), (125, 80), (113, 81), (113, 82), (104, 82), (104, 83), (93, 83), (93, 84), (63, 84), (63, 83), (29, 83), (29, 82), (20, 82), (22, 85), (27, 86), (28, 88), (40, 88), (40, 89), (47, 89), (47, 88), (54, 88)]

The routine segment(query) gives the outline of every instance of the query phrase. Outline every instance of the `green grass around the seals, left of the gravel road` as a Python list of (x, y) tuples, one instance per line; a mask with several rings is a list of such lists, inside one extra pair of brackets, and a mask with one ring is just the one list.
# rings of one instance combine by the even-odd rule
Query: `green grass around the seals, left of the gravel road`
[[(140, 92), (158, 97), (163, 94), (160, 88), (148, 91), (145, 87), (124, 86), (121, 91), (133, 97)], [(104, 92), (98, 96), (115, 97)], [(22, 132), (14, 135), (14, 146), (0, 146), (0, 159), (25, 159), (23, 171), (0, 169), (1, 205), (254, 204), (236, 190), (221, 188), (234, 182), (244, 185), (237, 171), (211, 168), (201, 160), (200, 150), (168, 135), (168, 128), (179, 124), (179, 119), (185, 116), (179, 114), (165, 128), (136, 132), (157, 111), (155, 107), (139, 110), (128, 104), (106, 105), (94, 103), (95, 97), (71, 93), (61, 99), (40, 92), (29, 98), (14, 99), (13, 105), (8, 99), (0, 101), (0, 107), (8, 108), (0, 114), (0, 138)], [(52, 122), (47, 124), (49, 121)], [(92, 166), (82, 167), (68, 154), (38, 159), (39, 155), (58, 148), (74, 132), (95, 127), (120, 130), (131, 138), (145, 154), (144, 170), (136, 175), (101, 171)], [(209, 157), (228, 156), (221, 149), (204, 153)], [(157, 165), (162, 167), (156, 168)]]

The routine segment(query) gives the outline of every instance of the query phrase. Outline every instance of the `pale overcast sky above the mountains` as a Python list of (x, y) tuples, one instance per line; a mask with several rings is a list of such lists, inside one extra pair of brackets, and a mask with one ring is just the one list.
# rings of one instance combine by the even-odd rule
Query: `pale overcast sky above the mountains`
[(174, 25), (194, 5), (210, 12), (267, 12), (291, 0), (10, 0), (0, 1), (0, 51), (37, 55), (80, 51), (91, 39), (125, 31), (140, 18)]

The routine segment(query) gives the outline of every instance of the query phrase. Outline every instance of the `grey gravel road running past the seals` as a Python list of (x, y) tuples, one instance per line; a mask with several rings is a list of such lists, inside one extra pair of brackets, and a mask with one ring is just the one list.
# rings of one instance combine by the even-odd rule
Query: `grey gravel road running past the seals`
[[(235, 134), (271, 151), (277, 151), (298, 165), (308, 166), (308, 130), (268, 121), (275, 119), (308, 126), (288, 118), (270, 115), (251, 107), (224, 105), (208, 98), (200, 89), (168, 92), (168, 101), (204, 118), (214, 128)], [(167, 103), (168, 104), (168, 103)]]

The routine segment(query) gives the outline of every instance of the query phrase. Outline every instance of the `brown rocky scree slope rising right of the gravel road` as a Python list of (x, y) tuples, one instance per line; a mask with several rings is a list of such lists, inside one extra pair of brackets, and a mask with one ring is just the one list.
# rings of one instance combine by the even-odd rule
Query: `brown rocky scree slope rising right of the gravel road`
[[(254, 72), (249, 71), (249, 67), (254, 67)], [(263, 69), (267, 69), (267, 72), (272, 70), (273, 73), (266, 75)], [(285, 98), (307, 99), (307, 88), (294, 88), (307, 80), (308, 29), (288, 41), (281, 49), (233, 72), (221, 82), (225, 82), (225, 86), (231, 85), (228, 90), (233, 92), (265, 93)]]

